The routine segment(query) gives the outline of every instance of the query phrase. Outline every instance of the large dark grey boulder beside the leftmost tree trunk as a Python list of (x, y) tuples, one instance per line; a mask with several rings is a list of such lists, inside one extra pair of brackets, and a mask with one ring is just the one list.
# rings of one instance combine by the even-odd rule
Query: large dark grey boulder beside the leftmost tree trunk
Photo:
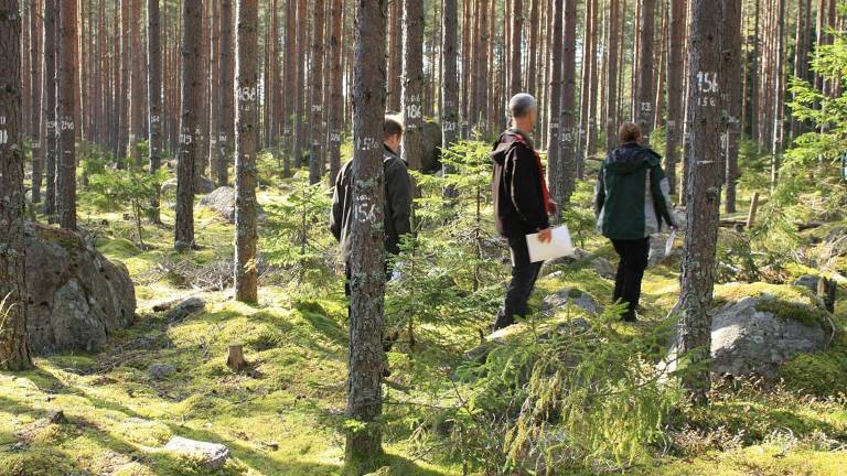
[(122, 264), (68, 230), (32, 223), (24, 241), (33, 351), (98, 351), (109, 334), (132, 324), (136, 291)]

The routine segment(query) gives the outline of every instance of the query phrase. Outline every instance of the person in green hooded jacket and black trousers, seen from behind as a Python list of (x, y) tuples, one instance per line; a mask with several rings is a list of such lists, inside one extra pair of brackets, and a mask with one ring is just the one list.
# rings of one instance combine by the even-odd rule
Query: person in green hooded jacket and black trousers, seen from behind
[(647, 268), (650, 236), (667, 224), (676, 228), (662, 156), (639, 144), (641, 128), (621, 126), (620, 147), (603, 160), (594, 188), (597, 228), (621, 258), (612, 301), (625, 302), (624, 321), (636, 320), (641, 281)]

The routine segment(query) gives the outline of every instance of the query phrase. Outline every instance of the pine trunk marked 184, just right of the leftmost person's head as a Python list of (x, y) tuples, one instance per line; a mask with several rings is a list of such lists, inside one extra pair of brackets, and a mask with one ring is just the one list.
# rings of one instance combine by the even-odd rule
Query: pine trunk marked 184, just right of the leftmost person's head
[(424, 123), (424, 0), (403, 2), (403, 158), (419, 171)]

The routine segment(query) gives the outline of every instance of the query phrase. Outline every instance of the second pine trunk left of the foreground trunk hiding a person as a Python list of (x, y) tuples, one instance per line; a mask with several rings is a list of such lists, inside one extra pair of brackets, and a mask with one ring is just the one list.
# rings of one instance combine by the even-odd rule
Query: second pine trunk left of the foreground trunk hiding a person
[(309, 134), (311, 148), (309, 151), (309, 183), (317, 184), (323, 176), (323, 15), (324, 0), (315, 0), (312, 6), (312, 61), (309, 74), (309, 111), (311, 115)]

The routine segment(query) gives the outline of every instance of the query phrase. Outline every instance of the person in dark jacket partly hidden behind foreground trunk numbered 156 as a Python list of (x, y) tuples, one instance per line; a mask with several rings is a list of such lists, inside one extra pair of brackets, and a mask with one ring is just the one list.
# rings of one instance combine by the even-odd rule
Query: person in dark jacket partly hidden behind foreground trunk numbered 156
[[(385, 173), (385, 250), (397, 255), (400, 238), (411, 230), (411, 177), (406, 162), (397, 155), (403, 137), (403, 125), (387, 116), (383, 127), (383, 167)], [(353, 220), (353, 161), (349, 161), (335, 178), (332, 196), (330, 229), (341, 246), (344, 263), (350, 262), (350, 226)], [(347, 270), (350, 267), (347, 266)], [(387, 263), (386, 263), (387, 270)]]

